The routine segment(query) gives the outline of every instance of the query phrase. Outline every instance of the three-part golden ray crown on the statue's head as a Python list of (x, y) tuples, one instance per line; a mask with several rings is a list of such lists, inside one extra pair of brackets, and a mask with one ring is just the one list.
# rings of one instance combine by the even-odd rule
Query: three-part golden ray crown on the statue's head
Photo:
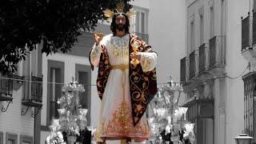
[[(117, 4), (116, 13), (113, 10), (109, 10), (109, 9), (103, 10), (103, 13), (106, 18), (113, 18), (114, 14), (123, 13), (123, 8), (124, 8), (124, 5), (120, 2)], [(134, 9), (130, 9), (129, 11), (126, 12), (126, 16), (128, 18), (132, 18), (135, 14), (136, 14), (136, 11)]]

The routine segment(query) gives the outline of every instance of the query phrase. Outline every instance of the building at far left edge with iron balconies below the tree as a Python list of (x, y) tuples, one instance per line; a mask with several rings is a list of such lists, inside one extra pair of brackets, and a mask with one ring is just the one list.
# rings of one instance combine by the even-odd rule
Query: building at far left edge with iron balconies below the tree
[(42, 45), (18, 63), (14, 74), (0, 74), (0, 143), (38, 143), (42, 108)]

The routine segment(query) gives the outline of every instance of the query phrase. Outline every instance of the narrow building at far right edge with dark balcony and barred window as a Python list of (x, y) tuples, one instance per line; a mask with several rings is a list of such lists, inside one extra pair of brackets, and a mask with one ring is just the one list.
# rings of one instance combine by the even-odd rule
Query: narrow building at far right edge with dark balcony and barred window
[(242, 50), (243, 58), (249, 62), (249, 72), (242, 76), (244, 82), (244, 132), (256, 142), (256, 97), (255, 97), (255, 53), (256, 43), (256, 2), (250, 1), (249, 10), (242, 19)]

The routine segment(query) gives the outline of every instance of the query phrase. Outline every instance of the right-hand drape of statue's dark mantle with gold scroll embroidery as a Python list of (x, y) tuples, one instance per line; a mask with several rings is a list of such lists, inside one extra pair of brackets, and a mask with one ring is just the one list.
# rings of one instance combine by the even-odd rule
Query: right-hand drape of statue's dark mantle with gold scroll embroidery
[[(131, 34), (130, 36), (135, 39), (138, 38), (134, 34)], [(153, 52), (151, 46), (146, 45), (146, 42), (141, 42), (142, 46), (139, 47), (139, 52)], [(130, 48), (130, 53), (131, 52), (132, 49)], [(146, 62), (146, 65), (148, 64), (150, 64), (150, 62)], [(142, 66), (133, 66), (130, 64), (129, 78), (132, 115), (134, 119), (134, 126), (136, 126), (140, 118), (142, 118), (142, 115), (145, 113), (147, 104), (157, 92), (155, 68), (149, 72), (143, 72)]]

